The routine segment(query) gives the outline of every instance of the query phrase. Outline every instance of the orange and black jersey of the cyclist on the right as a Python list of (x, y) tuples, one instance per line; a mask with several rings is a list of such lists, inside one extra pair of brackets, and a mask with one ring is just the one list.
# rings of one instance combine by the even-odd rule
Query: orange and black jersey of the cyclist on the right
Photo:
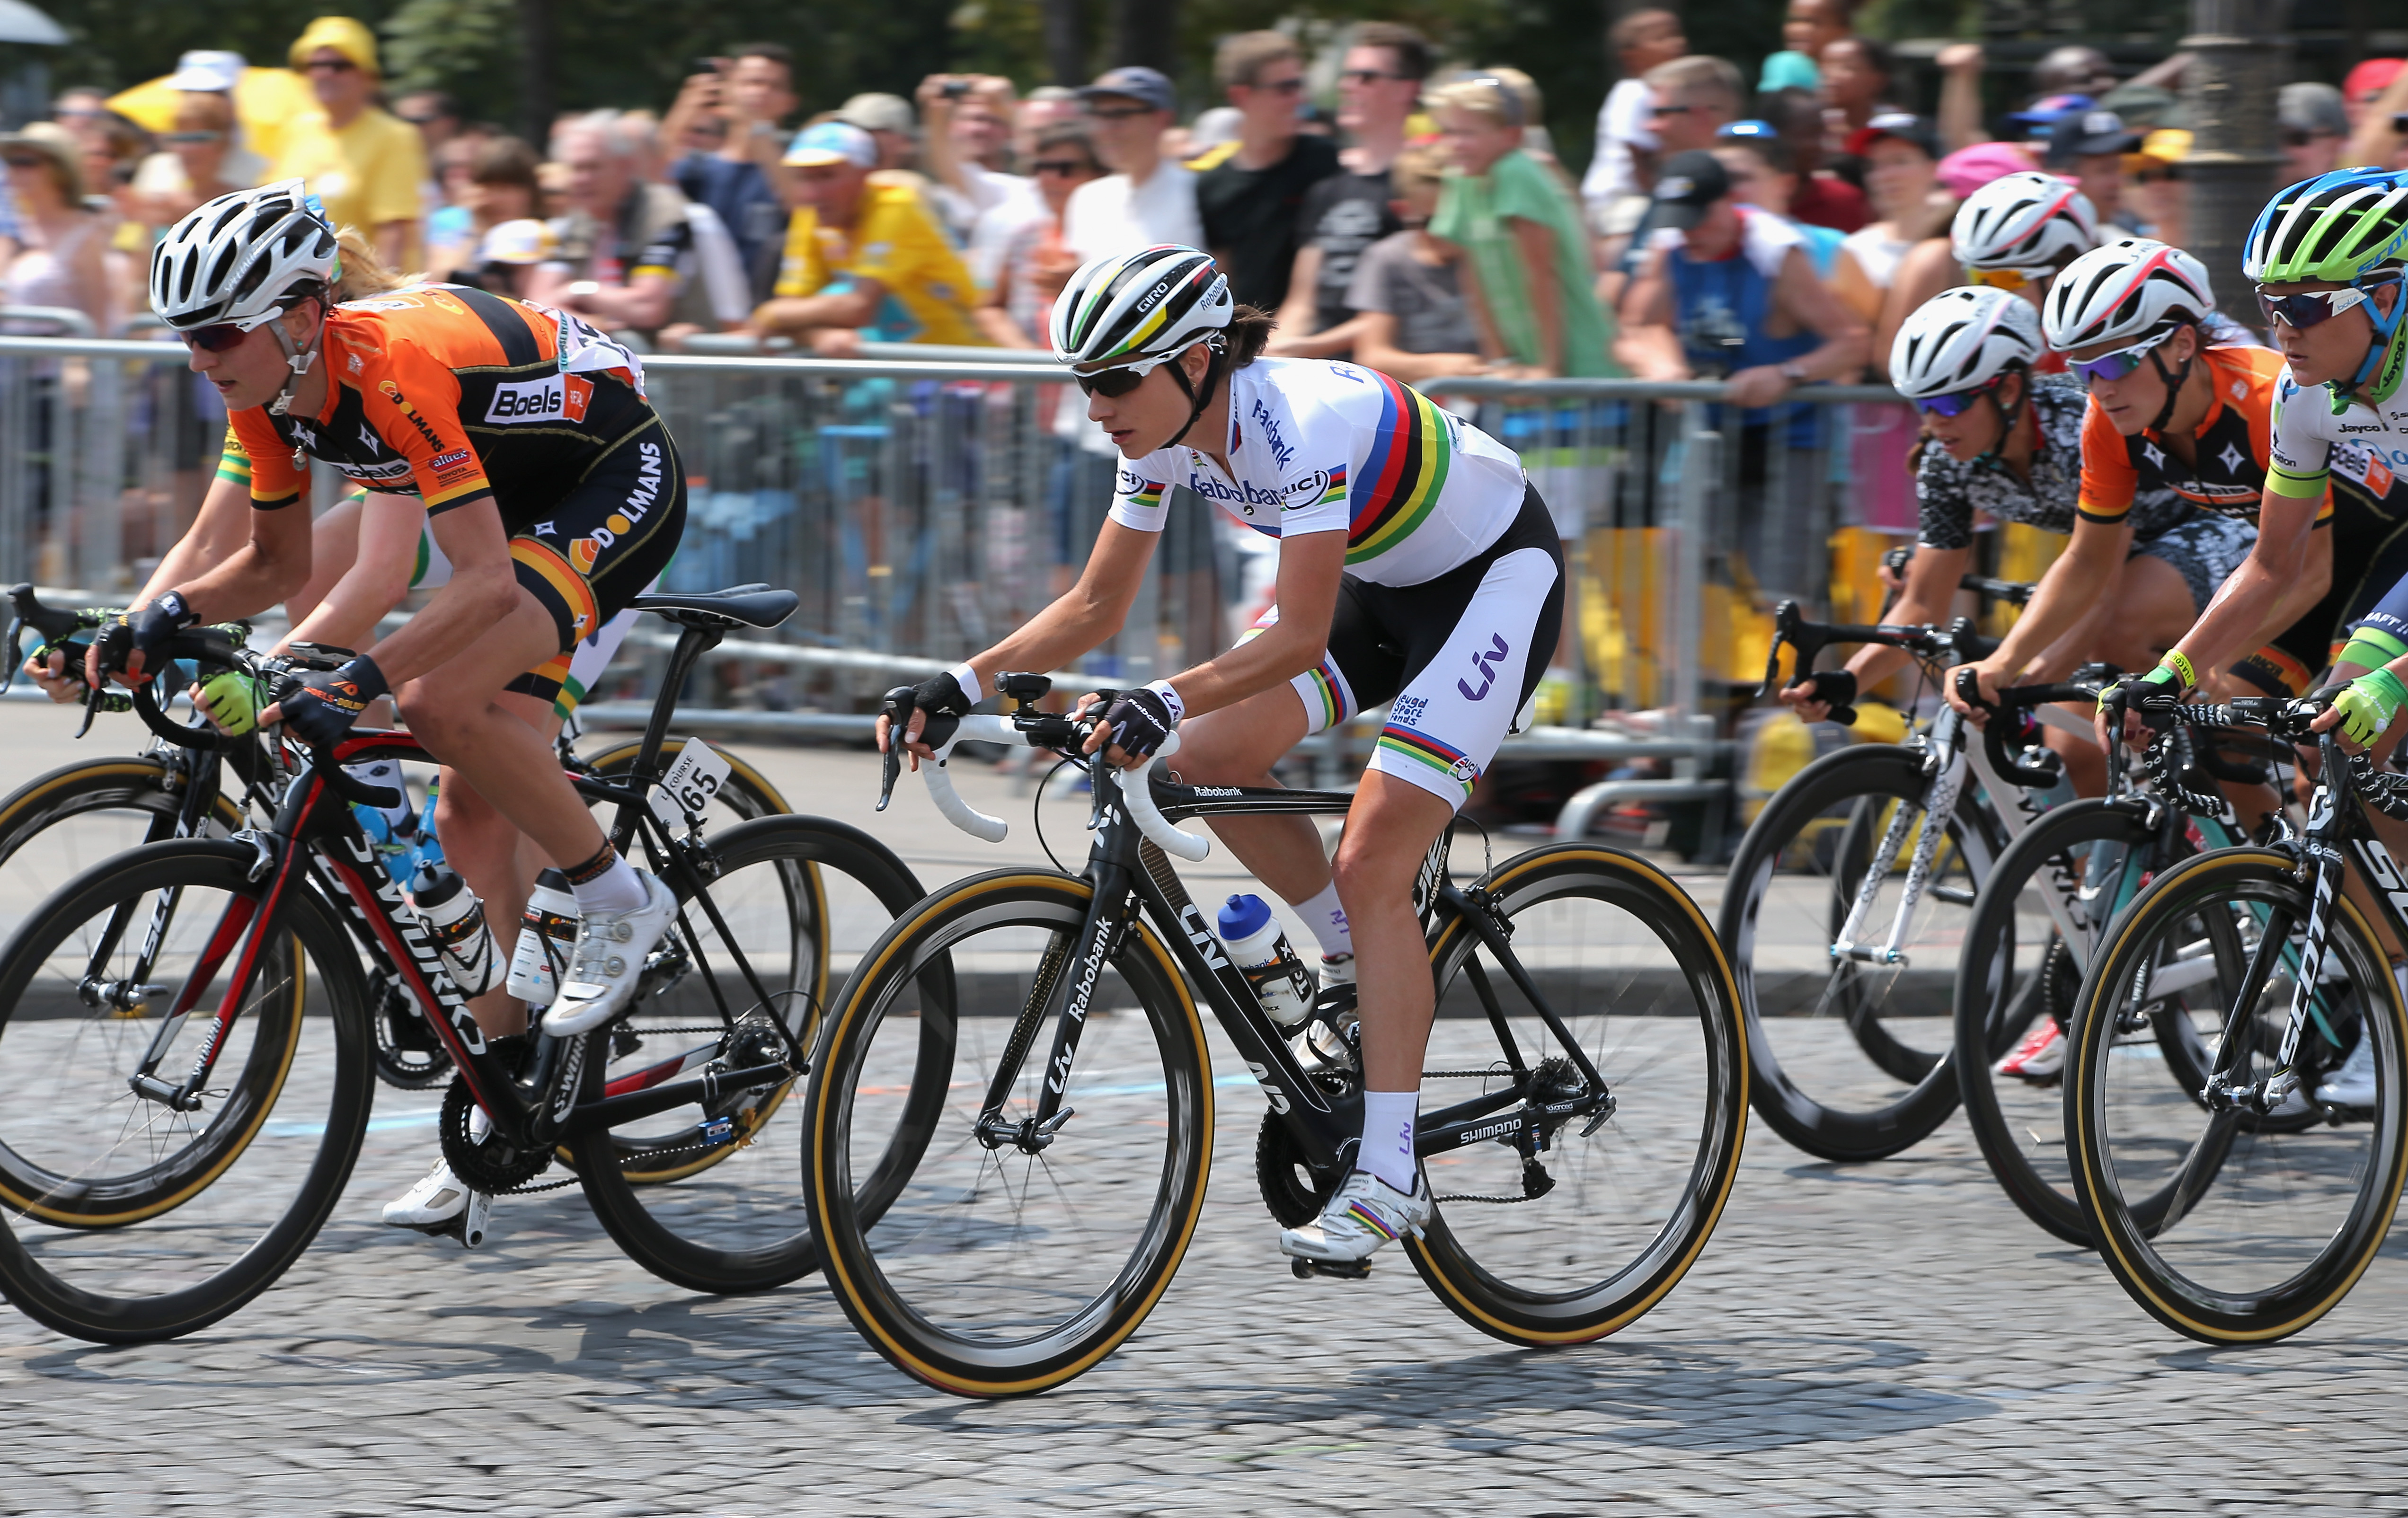
[[(2114, 431), (2097, 397), (2083, 416), (2083, 488), (2076, 515), (2117, 527), (2141, 491), (2174, 491), (2199, 510), (2256, 522), (2273, 447), (2273, 397), (2283, 354), (2273, 349), (2203, 349), (2213, 399), (2191, 433), (2191, 462), (2174, 457), (2160, 433), (2126, 438)], [(2331, 493), (2316, 524), (2333, 515)]]

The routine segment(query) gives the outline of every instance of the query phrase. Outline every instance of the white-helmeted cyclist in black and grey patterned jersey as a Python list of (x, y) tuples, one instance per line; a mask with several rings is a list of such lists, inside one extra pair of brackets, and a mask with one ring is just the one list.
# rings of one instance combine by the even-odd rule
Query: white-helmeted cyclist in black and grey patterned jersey
[[(1898, 327), (1890, 385), (1924, 419), (1914, 472), (1922, 527), (1905, 589), (1883, 621), (1948, 621), (1982, 517), (2054, 534), (2078, 529), (2088, 397), (2078, 380), (2040, 373), (2044, 356), (2040, 313), (1996, 286), (1941, 291)], [(2126, 558), (2109, 589), (2042, 652), (2028, 678), (2061, 678), (2090, 659), (2155, 664), (2256, 539), (2244, 522), (2203, 512), (2165, 486), (2136, 493), (2129, 522)], [(1859, 686), (1905, 664), (1905, 652), (1869, 645), (1845, 669), (1799, 678), (1782, 700), (1806, 719), (1823, 719), (1828, 707), (1849, 705)], [(2054, 731), (2049, 741), (2056, 743)], [(2097, 748), (2076, 741), (2066, 760), (2076, 789), (2097, 794), (2105, 782)]]

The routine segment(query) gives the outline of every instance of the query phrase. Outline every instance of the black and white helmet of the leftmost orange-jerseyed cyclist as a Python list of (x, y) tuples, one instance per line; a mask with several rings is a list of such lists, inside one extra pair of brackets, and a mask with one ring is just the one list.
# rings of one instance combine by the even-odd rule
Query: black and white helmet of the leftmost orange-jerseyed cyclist
[(289, 178), (219, 195), (171, 226), (152, 248), (152, 310), (178, 332), (258, 327), (296, 291), (332, 289), (340, 272), (335, 226)]

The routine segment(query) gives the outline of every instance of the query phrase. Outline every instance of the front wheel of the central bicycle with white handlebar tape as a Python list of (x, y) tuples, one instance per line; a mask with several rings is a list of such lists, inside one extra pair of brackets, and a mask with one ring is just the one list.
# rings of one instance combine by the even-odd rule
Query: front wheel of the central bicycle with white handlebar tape
[[(1204, 1027), (1144, 921), (1110, 957), (1069, 965), (1091, 902), (1086, 880), (1043, 871), (949, 885), (879, 938), (828, 1013), (804, 1095), (828, 1285), (879, 1354), (942, 1390), (1035, 1393), (1110, 1354), (1204, 1210)], [(939, 953), (963, 969), (958, 1030), (922, 998), (917, 967)], [(1060, 1126), (1023, 1145), (1002, 1128), (1031, 1121), (1074, 977), (1091, 1010)], [(1004, 1104), (980, 1133), (990, 1090)], [(917, 1169), (898, 1150), (925, 1150)]]

